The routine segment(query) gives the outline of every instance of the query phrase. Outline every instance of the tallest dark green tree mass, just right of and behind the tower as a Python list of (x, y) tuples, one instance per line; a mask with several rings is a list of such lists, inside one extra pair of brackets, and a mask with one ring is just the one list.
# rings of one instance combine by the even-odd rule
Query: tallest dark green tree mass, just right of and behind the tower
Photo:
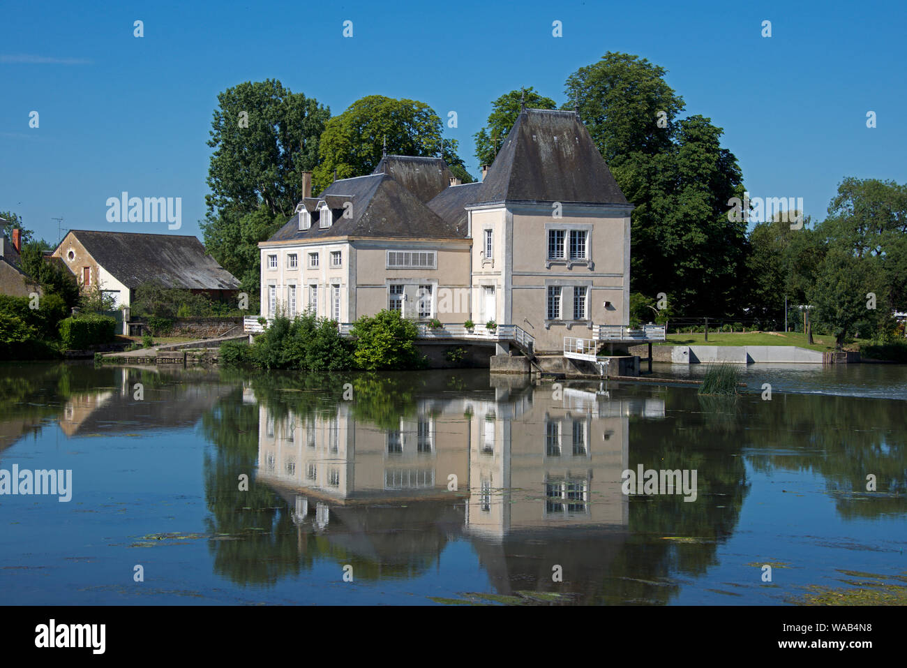
[(736, 157), (703, 116), (678, 119), (683, 98), (666, 71), (636, 55), (607, 53), (567, 78), (565, 94), (636, 209), (632, 290), (670, 293), (681, 316), (736, 315), (746, 258), (746, 222), (727, 216), (743, 196)]

